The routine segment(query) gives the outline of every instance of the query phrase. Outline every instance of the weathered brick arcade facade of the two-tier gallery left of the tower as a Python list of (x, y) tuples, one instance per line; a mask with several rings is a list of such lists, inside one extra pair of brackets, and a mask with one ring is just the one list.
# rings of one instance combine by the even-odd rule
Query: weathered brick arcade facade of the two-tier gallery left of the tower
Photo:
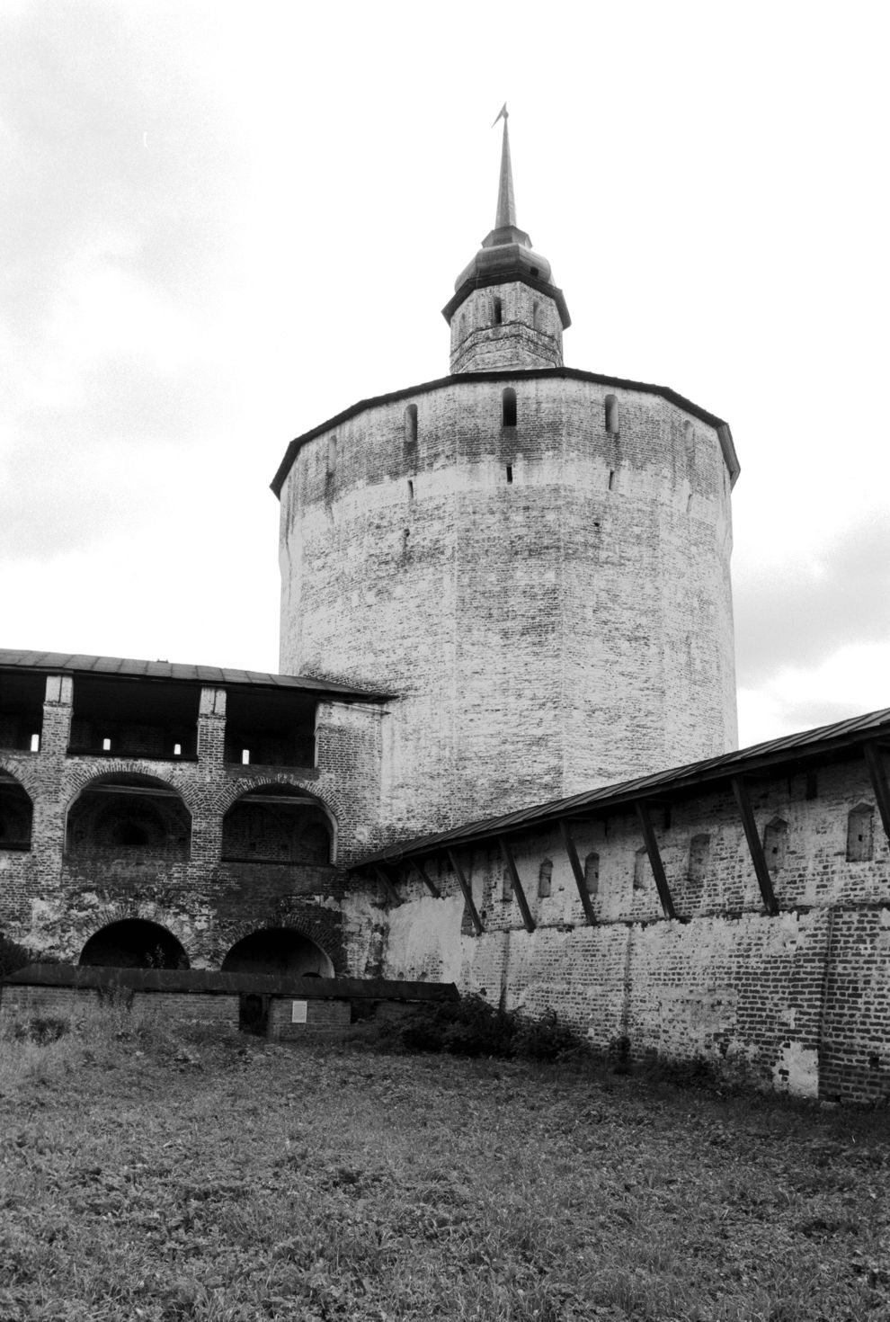
[[(34, 958), (77, 962), (102, 928), (139, 919), (172, 933), (192, 968), (220, 968), (251, 932), (292, 928), (323, 949), (333, 972), (348, 972), (345, 867), (380, 834), (378, 707), (321, 702), (312, 768), (227, 761), (225, 691), (213, 689), (201, 697), (197, 758), (91, 756), (70, 751), (75, 683), (48, 678), (38, 752), (0, 748), (0, 772), (33, 805), (32, 847), (0, 847), (0, 931)], [(97, 787), (134, 777), (168, 795), (152, 813), (169, 834), (144, 847), (115, 846), (101, 833), (97, 842), (89, 833), (99, 814), (83, 805)], [(229, 809), (251, 791), (276, 788), (312, 796), (317, 809), (307, 812), (313, 826), (328, 825), (329, 862), (226, 859)], [(139, 805), (139, 796), (127, 802)]]

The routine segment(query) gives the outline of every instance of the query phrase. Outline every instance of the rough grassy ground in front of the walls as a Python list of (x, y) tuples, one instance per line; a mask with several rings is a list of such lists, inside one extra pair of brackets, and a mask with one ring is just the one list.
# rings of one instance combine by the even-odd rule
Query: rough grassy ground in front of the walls
[(0, 1322), (890, 1319), (887, 1113), (603, 1067), (0, 1043)]

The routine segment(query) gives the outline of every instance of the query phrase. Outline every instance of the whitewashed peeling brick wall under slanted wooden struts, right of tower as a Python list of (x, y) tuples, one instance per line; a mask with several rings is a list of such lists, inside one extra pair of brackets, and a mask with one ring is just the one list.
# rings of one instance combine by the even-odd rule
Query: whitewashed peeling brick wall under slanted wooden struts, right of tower
[[(635, 1056), (704, 1056), (799, 1096), (886, 1101), (890, 850), (865, 765), (759, 781), (751, 800), (776, 916), (763, 912), (734, 800), (702, 793), (669, 817), (653, 809), (673, 920), (632, 810), (573, 822), (594, 925), (555, 828), (510, 837), (532, 932), (496, 843), (458, 850), (479, 936), (447, 859), (423, 861), (435, 899), (394, 853), (402, 903), (389, 911), (381, 972), (553, 1010), (602, 1048), (627, 1039)], [(350, 891), (348, 908), (369, 896)], [(354, 927), (350, 917), (350, 957)]]

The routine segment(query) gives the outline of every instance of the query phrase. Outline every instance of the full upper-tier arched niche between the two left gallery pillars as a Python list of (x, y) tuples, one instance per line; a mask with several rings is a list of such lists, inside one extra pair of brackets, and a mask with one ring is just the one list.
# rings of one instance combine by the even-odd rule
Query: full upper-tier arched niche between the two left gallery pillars
[(91, 780), (67, 812), (66, 847), (71, 854), (186, 859), (192, 814), (179, 792), (163, 780), (111, 773)]

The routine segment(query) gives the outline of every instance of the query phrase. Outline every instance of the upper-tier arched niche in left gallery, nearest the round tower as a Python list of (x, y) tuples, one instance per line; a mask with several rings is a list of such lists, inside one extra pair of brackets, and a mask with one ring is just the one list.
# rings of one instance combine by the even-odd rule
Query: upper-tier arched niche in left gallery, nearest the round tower
[(295, 785), (249, 789), (222, 820), (223, 862), (325, 865), (333, 859), (332, 821)]

